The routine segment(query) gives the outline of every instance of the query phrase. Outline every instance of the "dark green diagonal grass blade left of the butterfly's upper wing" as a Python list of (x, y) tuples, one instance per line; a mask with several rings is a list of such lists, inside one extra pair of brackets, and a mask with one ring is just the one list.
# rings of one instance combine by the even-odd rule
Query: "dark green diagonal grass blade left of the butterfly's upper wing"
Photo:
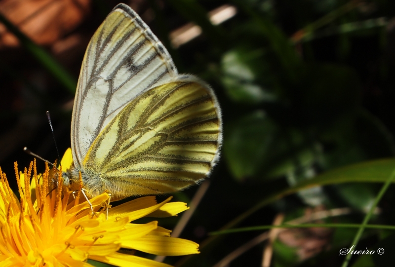
[(3, 23), (5, 27), (7, 27), (8, 31), (10, 31), (16, 36), (16, 38), (19, 39), (22, 46), (25, 47), (48, 72), (58, 79), (66, 89), (68, 89), (73, 94), (76, 92), (76, 80), (47, 51), (45, 51), (45, 49), (37, 45), (34, 41), (22, 33), (1, 13), (0, 22)]

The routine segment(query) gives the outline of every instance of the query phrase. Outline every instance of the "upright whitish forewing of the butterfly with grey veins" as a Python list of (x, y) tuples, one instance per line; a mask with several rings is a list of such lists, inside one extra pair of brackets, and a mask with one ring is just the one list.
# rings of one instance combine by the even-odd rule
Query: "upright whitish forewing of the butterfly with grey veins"
[(88, 44), (72, 116), (74, 164), (133, 98), (177, 77), (165, 47), (127, 5), (118, 4)]

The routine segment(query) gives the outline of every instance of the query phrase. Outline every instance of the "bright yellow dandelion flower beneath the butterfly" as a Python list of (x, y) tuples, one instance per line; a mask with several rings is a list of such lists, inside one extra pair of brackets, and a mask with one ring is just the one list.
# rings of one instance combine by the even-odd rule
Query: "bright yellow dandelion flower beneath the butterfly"
[[(62, 164), (67, 161), (66, 153)], [(73, 195), (62, 187), (58, 170), (46, 165), (37, 175), (34, 161), (18, 173), (15, 162), (15, 173), (20, 200), (0, 169), (0, 266), (89, 267), (86, 261), (92, 259), (120, 267), (169, 267), (118, 250), (164, 256), (199, 253), (195, 242), (170, 237), (171, 231), (158, 227), (157, 221), (131, 223), (142, 217), (176, 215), (188, 209), (185, 203), (168, 203), (171, 197), (157, 203), (155, 196), (146, 196), (111, 208), (106, 218), (107, 193), (90, 199), (92, 213), (80, 191)]]

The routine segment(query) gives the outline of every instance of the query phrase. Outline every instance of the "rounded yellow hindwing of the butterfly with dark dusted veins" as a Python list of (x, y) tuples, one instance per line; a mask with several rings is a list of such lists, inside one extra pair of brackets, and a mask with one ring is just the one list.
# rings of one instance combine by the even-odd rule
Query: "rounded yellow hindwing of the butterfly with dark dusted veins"
[[(83, 165), (86, 185), (115, 198), (177, 191), (206, 177), (218, 158), (221, 115), (214, 93), (193, 76), (152, 88), (104, 128)], [(97, 191), (97, 192), (95, 192)]]

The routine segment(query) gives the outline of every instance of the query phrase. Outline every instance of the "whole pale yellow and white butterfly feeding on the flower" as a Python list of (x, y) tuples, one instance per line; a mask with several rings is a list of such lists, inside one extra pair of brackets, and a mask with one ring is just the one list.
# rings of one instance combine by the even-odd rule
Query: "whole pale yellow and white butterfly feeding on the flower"
[(118, 4), (86, 49), (74, 101), (70, 189), (112, 199), (182, 190), (216, 164), (221, 109), (211, 87), (178, 74), (142, 19)]

